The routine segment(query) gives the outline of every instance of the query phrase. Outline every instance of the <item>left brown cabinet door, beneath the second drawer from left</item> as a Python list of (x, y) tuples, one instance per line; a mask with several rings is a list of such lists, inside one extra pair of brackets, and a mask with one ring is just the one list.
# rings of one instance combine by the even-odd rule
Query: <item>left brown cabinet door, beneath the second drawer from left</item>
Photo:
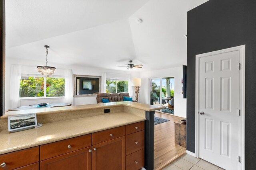
[(40, 170), (91, 170), (91, 147), (56, 156), (40, 162)]

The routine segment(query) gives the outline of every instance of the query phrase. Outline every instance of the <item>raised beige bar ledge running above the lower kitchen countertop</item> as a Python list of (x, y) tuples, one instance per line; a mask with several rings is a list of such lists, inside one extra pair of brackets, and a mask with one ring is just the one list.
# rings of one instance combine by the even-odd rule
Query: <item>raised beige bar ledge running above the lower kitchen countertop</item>
[(8, 115), (17, 115), (17, 114), (26, 114), (26, 113), (56, 113), (56, 112), (68, 112), (68, 111), (78, 111), (86, 109), (98, 109), (106, 107), (116, 107), (116, 106), (128, 106), (136, 109), (141, 109), (145, 111), (155, 111), (164, 109), (165, 107), (136, 103), (136, 102), (110, 102), (110, 103), (98, 103), (98, 104), (87, 104), (87, 105), (78, 105), (78, 106), (66, 106), (66, 107), (53, 107), (53, 108), (42, 108), (42, 109), (29, 109), (29, 110), (18, 110), (18, 111), (8, 111), (4, 114), (3, 117)]

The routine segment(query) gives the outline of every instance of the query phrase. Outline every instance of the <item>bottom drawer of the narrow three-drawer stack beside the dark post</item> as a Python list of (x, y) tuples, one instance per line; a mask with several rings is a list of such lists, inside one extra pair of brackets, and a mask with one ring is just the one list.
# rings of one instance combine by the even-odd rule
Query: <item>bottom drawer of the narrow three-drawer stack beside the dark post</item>
[(126, 170), (138, 170), (144, 167), (144, 149), (126, 156)]

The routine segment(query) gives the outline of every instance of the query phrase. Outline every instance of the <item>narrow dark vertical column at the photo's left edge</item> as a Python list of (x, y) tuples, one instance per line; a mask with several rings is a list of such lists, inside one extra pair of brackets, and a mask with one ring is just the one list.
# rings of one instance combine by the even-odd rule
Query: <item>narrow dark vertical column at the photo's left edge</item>
[(5, 112), (5, 0), (0, 1), (0, 115)]

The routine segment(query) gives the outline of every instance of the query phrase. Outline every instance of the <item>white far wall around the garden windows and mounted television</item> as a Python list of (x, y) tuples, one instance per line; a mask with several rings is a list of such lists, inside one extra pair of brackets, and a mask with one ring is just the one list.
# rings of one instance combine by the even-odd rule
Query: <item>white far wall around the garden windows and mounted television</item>
[[(100, 62), (100, 61), (98, 61)], [(45, 65), (45, 62), (41, 61), (29, 61), (29, 60), (21, 60), (21, 59), (13, 59), (13, 58), (6, 58), (6, 88), (5, 88), (5, 107), (6, 110), (11, 109), (9, 108), (9, 93), (10, 93), (10, 67), (11, 64), (17, 64), (22, 66), (33, 66), (34, 70), (30, 70), (27, 72), (37, 72), (36, 66), (38, 65)], [(64, 65), (64, 64), (56, 64), (51, 63), (50, 66), (56, 67), (56, 74), (63, 74), (63, 69), (72, 69), (73, 74), (78, 75), (90, 75), (90, 76), (102, 76), (102, 72), (110, 72), (110, 73), (119, 73), (119, 74), (131, 74), (131, 78), (133, 77), (139, 77), (138, 72), (134, 72), (134, 70), (127, 70), (127, 71), (120, 71), (120, 70), (109, 70), (104, 68), (96, 68), (96, 67), (88, 67), (88, 66), (77, 66), (77, 65)], [(24, 70), (23, 70), (24, 71)], [(130, 94), (130, 96), (133, 95), (134, 92)], [(28, 106), (30, 104), (37, 104), (42, 102), (48, 102), (48, 103), (63, 103), (63, 98), (54, 98), (54, 99), (30, 99), (30, 100), (20, 100), (20, 106)], [(96, 104), (96, 96), (89, 96), (89, 97), (76, 97), (74, 98), (74, 105), (82, 105), (82, 104)]]

